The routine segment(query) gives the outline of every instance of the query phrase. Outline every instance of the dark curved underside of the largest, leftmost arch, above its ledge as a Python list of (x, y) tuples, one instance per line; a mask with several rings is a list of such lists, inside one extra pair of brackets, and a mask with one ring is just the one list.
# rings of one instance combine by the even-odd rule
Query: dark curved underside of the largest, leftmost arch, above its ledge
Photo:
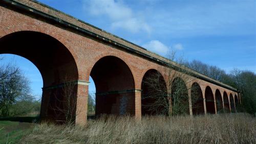
[[(11, 42), (13, 39), (15, 42)], [(78, 80), (79, 74), (75, 58), (66, 45), (55, 37), (36, 31), (16, 31), (2, 36), (0, 40), (2, 43), (1, 53), (22, 56), (38, 68), (43, 78), (44, 87)], [(18, 49), (19, 46), (22, 49)], [(69, 65), (64, 66), (67, 63)], [(54, 79), (54, 77), (58, 77), (58, 79)]]

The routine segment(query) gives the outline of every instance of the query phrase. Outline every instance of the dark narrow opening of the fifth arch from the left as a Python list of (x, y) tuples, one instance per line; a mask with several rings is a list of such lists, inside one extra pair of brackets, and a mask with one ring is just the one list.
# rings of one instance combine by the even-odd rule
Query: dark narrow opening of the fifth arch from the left
[(191, 87), (191, 103), (194, 115), (204, 114), (203, 93), (200, 85), (196, 82)]

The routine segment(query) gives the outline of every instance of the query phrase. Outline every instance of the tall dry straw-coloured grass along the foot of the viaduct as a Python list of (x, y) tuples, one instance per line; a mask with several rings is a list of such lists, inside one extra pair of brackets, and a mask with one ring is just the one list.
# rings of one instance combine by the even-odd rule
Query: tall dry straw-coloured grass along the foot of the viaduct
[(86, 127), (40, 124), (22, 143), (256, 143), (256, 118), (247, 114), (123, 116), (91, 120)]

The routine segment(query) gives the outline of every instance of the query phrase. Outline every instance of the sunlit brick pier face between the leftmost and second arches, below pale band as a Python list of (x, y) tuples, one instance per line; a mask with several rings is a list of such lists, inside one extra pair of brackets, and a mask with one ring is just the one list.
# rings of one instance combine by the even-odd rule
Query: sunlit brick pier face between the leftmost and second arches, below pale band
[(87, 123), (87, 104), (88, 104), (88, 85), (77, 85), (76, 98), (76, 125), (86, 125)]

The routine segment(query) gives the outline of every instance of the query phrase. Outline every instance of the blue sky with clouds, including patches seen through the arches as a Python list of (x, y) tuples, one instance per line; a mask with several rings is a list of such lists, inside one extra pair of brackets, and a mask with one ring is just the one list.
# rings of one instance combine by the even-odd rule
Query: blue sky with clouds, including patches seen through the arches
[[(256, 1), (40, 0), (100, 29), (166, 56), (175, 50), (184, 59), (256, 73)], [(1, 55), (0, 55), (1, 56)], [(3, 55), (2, 55), (3, 56)], [(40, 93), (40, 73), (26, 59), (16, 61)], [(37, 87), (37, 88), (36, 88)], [(90, 90), (94, 90), (93, 83)]]

